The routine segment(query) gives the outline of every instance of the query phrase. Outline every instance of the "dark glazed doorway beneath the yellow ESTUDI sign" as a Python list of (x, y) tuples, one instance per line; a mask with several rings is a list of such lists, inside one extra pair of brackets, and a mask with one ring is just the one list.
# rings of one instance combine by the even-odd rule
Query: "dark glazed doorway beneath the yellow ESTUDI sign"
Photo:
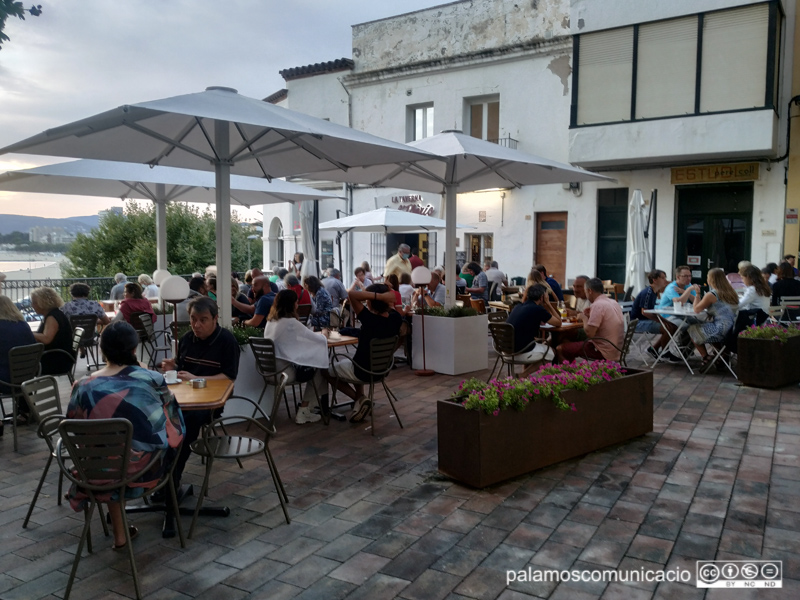
[(675, 265), (689, 265), (692, 282), (709, 269), (735, 273), (750, 258), (752, 184), (678, 188)]

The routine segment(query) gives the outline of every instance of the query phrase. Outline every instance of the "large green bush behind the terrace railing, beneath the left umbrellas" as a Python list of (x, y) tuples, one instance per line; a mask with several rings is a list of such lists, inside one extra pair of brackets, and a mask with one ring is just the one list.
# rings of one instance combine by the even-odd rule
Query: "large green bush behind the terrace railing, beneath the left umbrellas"
[[(210, 210), (180, 203), (167, 205), (167, 269), (170, 273), (203, 272), (216, 264), (216, 233)], [(261, 263), (261, 240), (248, 240), (249, 230), (231, 215), (232, 269), (246, 270)], [(252, 264), (247, 264), (250, 243)], [(128, 202), (122, 215), (108, 214), (88, 234), (78, 234), (66, 253), (65, 277), (103, 277), (122, 272), (130, 275), (156, 269), (155, 205)]]

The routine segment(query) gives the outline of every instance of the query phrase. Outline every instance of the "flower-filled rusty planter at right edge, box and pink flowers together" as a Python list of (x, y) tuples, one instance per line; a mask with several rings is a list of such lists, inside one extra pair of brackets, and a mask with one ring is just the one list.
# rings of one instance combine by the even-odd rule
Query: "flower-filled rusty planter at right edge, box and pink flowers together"
[(745, 385), (779, 388), (800, 381), (800, 328), (765, 323), (742, 331), (736, 374)]

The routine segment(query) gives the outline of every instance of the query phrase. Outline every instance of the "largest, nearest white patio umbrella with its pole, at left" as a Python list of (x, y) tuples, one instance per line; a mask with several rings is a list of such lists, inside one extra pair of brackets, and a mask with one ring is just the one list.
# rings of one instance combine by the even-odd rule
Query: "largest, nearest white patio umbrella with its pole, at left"
[[(230, 212), (231, 173), (282, 177), (430, 158), (403, 144), (239, 95), (230, 88), (124, 105), (0, 149), (215, 173), (216, 210)], [(230, 219), (217, 219), (217, 276), (230, 277)], [(230, 323), (231, 307), (220, 307)]]

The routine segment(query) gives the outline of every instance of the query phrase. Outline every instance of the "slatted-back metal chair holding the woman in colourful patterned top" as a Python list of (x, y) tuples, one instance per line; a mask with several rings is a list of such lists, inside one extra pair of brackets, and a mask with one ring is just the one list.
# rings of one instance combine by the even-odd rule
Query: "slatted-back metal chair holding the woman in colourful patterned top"
[[(64, 419), (59, 424), (58, 431), (61, 435), (55, 452), (58, 466), (67, 479), (79, 486), (89, 496), (89, 504), (84, 509), (83, 532), (78, 541), (78, 549), (75, 552), (75, 560), (72, 563), (72, 571), (69, 575), (64, 598), (65, 600), (69, 598), (72, 591), (72, 584), (75, 581), (75, 573), (81, 560), (84, 542), (86, 542), (89, 552), (92, 552), (91, 522), (94, 509), (98, 506), (96, 494), (117, 491), (120, 498), (120, 508), (122, 509), (122, 524), (125, 529), (125, 545), (128, 548), (128, 557), (131, 563), (133, 586), (136, 591), (136, 598), (140, 599), (142, 595), (139, 589), (139, 574), (136, 571), (136, 560), (133, 556), (128, 517), (125, 513), (125, 488), (141, 478), (143, 474), (155, 465), (161, 464), (164, 452), (154, 453), (150, 462), (143, 469), (129, 476), (128, 464), (133, 425), (127, 419)], [(62, 450), (66, 450), (72, 461), (72, 466), (65, 464)], [(172, 488), (173, 509), (177, 514), (178, 502), (174, 493), (175, 488), (174, 486), (170, 487)], [(180, 532), (180, 523), (178, 530)], [(181, 541), (183, 541), (182, 533)]]

